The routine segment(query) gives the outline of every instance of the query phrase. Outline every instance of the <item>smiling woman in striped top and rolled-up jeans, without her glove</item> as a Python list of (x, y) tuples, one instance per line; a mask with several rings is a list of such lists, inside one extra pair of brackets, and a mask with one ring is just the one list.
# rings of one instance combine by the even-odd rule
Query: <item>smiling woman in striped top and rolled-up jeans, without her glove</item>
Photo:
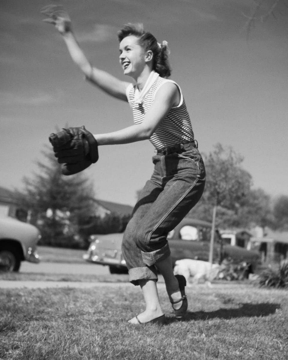
[(204, 190), (205, 169), (180, 87), (171, 80), (167, 43), (138, 25), (128, 24), (118, 32), (120, 65), (134, 84), (91, 66), (71, 29), (63, 8), (47, 6), (44, 21), (54, 24), (66, 42), (72, 60), (87, 80), (106, 93), (130, 103), (134, 125), (95, 134), (98, 145), (126, 144), (149, 139), (157, 150), (154, 172), (144, 186), (123, 237), (122, 251), (130, 282), (140, 285), (146, 309), (129, 320), (131, 324), (162, 323), (165, 315), (157, 292), (157, 270), (176, 318), (187, 310), (184, 276), (174, 276), (167, 234), (199, 201)]

